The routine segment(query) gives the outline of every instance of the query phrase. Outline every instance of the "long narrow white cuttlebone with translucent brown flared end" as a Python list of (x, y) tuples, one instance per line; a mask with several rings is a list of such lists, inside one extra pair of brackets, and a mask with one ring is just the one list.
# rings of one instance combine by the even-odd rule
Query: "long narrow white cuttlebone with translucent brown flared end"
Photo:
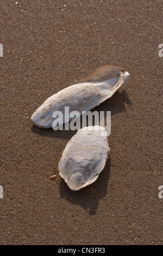
[[(81, 115), (82, 111), (89, 111), (109, 99), (117, 90), (121, 93), (128, 81), (129, 73), (123, 68), (112, 65), (101, 66), (72, 86), (49, 97), (36, 109), (31, 119), (36, 126), (50, 128), (55, 111), (62, 112), (65, 117), (65, 107), (69, 107), (69, 112), (78, 111)], [(69, 120), (71, 119), (73, 118)], [(64, 118), (62, 123), (65, 123)]]

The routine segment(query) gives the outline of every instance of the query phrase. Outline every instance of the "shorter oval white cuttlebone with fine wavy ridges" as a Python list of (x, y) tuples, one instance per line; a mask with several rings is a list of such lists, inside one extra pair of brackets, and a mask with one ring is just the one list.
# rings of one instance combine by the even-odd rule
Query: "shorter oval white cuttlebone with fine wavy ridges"
[(59, 174), (71, 190), (90, 185), (102, 172), (109, 155), (107, 132), (102, 126), (80, 129), (67, 143), (59, 161)]

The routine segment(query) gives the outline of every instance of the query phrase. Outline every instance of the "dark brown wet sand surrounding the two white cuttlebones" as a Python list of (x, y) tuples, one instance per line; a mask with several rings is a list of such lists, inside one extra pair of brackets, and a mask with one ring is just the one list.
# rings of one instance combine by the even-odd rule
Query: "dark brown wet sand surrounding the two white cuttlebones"
[[(0, 22), (0, 244), (163, 245), (162, 1), (5, 0)], [(130, 81), (93, 109), (111, 111), (109, 159), (73, 192), (58, 163), (76, 131), (30, 117), (106, 64)]]

